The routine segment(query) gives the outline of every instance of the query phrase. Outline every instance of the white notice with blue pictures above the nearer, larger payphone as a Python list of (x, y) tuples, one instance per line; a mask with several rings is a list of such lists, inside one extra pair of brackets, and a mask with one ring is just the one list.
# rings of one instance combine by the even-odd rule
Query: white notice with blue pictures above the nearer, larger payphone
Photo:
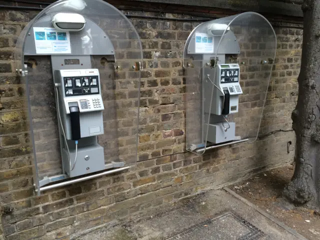
[(69, 32), (53, 27), (33, 27), (33, 33), (37, 54), (71, 53)]

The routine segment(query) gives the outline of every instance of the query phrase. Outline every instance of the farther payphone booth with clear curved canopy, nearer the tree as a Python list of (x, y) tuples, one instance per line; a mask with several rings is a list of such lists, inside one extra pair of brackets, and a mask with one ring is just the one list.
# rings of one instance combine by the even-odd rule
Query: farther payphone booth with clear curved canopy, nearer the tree
[(256, 140), (275, 51), (271, 24), (255, 12), (193, 29), (182, 59), (187, 150), (203, 154), (216, 143)]

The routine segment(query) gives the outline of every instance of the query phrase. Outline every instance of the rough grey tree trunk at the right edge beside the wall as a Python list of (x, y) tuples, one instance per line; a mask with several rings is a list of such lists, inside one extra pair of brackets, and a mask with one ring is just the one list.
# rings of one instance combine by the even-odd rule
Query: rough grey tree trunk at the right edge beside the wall
[(320, 203), (320, 0), (304, 0), (298, 99), (292, 111), (295, 169), (284, 195), (295, 203)]

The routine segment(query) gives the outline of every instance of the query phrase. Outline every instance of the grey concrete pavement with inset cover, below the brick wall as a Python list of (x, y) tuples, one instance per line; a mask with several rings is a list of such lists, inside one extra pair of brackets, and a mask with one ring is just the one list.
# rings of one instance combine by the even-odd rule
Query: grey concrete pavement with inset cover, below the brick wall
[(209, 190), (159, 210), (155, 215), (140, 214), (117, 226), (102, 227), (77, 239), (301, 239), (222, 189)]

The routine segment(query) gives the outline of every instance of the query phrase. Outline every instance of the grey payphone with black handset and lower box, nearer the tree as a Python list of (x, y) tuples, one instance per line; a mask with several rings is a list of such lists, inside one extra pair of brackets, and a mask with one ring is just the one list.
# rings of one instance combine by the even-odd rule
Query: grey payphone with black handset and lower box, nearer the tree
[(209, 118), (208, 123), (204, 125), (204, 131), (208, 131), (207, 140), (212, 143), (232, 141), (235, 139), (235, 123), (228, 121), (227, 116), (238, 112), (239, 95), (242, 94), (239, 65), (217, 64), (215, 68), (208, 68), (205, 74), (206, 99), (210, 98), (211, 85), (214, 86), (212, 102), (204, 101), (204, 114)]

